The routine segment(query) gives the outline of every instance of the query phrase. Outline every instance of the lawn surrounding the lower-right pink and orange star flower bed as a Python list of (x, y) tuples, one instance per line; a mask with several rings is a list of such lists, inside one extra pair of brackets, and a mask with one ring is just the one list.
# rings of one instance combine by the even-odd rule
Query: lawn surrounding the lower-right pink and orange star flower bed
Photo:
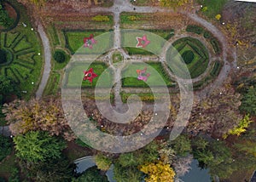
[[(147, 73), (150, 74), (147, 82), (137, 79), (137, 70), (143, 70), (144, 67), (147, 67)], [(138, 87), (138, 88), (147, 88), (149, 86), (168, 86), (171, 87), (173, 82), (164, 70), (161, 63), (132, 63), (127, 65), (122, 71), (122, 86), (123, 87)]]

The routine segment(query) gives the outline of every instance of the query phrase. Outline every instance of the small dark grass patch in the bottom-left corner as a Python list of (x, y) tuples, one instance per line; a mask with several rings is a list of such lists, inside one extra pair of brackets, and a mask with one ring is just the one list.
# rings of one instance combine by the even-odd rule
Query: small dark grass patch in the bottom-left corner
[(18, 168), (17, 163), (15, 162), (16, 156), (15, 152), (13, 151), (10, 156), (7, 156), (0, 164), (0, 177), (4, 179), (9, 179), (11, 173), (14, 168)]

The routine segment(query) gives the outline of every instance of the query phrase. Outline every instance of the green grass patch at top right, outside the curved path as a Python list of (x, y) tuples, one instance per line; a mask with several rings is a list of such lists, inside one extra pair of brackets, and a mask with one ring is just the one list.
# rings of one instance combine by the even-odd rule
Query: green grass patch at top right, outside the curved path
[(200, 3), (203, 7), (207, 7), (207, 10), (202, 13), (212, 19), (215, 19), (217, 14), (221, 14), (224, 4), (227, 2), (228, 0), (197, 0), (197, 3)]

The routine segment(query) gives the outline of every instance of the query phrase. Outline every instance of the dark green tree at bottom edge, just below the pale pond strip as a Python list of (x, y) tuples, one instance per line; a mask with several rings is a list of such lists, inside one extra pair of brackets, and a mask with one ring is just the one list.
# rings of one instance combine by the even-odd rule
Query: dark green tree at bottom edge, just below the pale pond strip
[(102, 176), (100, 170), (96, 167), (88, 168), (79, 178), (73, 179), (72, 182), (108, 182), (106, 175)]

